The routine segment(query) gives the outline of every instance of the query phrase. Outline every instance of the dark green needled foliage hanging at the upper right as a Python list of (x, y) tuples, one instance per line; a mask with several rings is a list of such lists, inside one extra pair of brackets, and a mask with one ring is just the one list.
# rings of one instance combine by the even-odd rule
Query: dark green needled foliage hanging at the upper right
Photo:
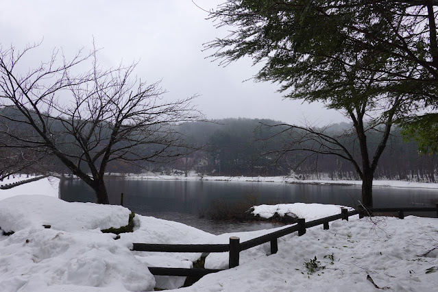
[(345, 97), (369, 83), (370, 93), (426, 97), (436, 93), (438, 51), (428, 1), (421, 2), (228, 0), (211, 18), (232, 33), (207, 47), (219, 49), (213, 56), (221, 64), (243, 56), (263, 62), (256, 80), (281, 82), (293, 98)]

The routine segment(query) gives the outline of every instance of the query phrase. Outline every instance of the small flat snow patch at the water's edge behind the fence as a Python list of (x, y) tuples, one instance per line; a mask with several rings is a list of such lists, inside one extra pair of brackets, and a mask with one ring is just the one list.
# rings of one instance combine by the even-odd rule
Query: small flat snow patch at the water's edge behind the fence
[(306, 221), (316, 220), (332, 215), (341, 214), (341, 208), (348, 208), (348, 210), (354, 210), (351, 207), (345, 207), (340, 205), (324, 205), (324, 204), (277, 204), (277, 205), (260, 205), (254, 206), (252, 214), (259, 215), (262, 218), (269, 219), (275, 213), (280, 216), (285, 214), (295, 214), (298, 218), (305, 218)]

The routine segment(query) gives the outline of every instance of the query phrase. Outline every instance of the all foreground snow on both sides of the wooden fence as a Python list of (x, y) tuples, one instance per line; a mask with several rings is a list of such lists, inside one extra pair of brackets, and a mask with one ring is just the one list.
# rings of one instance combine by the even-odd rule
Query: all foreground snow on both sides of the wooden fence
[[(215, 236), (182, 223), (136, 215), (132, 233), (102, 233), (127, 224), (130, 210), (121, 206), (68, 203), (54, 192), (42, 195), (37, 182), (25, 184), (32, 195), (0, 199), (0, 291), (151, 291), (176, 289), (185, 277), (152, 276), (147, 267), (192, 267), (199, 253), (131, 252), (132, 243), (241, 242), (271, 230)], [(41, 184), (49, 184), (42, 180)], [(46, 185), (47, 186), (47, 185)], [(5, 196), (5, 195), (4, 195)], [(339, 213), (339, 206), (280, 204), (255, 206), (261, 215), (294, 212), (306, 221)], [(44, 228), (42, 224), (50, 224)], [(1, 234), (2, 232), (0, 232)], [(311, 273), (304, 263), (317, 257)], [(211, 253), (207, 268), (228, 267), (228, 253)], [(426, 273), (431, 271), (430, 273)], [(435, 291), (438, 286), (438, 219), (373, 217), (308, 228), (245, 250), (240, 265), (204, 276), (178, 291)]]

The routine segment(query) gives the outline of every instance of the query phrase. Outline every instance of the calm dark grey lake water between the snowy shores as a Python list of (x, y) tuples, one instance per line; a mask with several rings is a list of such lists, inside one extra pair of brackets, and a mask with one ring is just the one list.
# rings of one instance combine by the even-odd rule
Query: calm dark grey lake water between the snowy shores
[[(215, 223), (199, 219), (199, 212), (217, 199), (236, 202), (245, 195), (255, 195), (257, 204), (302, 202), (354, 207), (361, 198), (360, 186), (124, 178), (110, 178), (106, 183), (110, 204), (120, 204), (120, 195), (124, 193), (123, 205), (138, 214), (182, 222), (215, 234), (275, 227), (270, 223)], [(375, 207), (426, 207), (438, 202), (437, 190), (376, 187), (373, 192)], [(93, 190), (81, 180), (63, 180), (60, 194), (69, 202), (95, 202)]]

